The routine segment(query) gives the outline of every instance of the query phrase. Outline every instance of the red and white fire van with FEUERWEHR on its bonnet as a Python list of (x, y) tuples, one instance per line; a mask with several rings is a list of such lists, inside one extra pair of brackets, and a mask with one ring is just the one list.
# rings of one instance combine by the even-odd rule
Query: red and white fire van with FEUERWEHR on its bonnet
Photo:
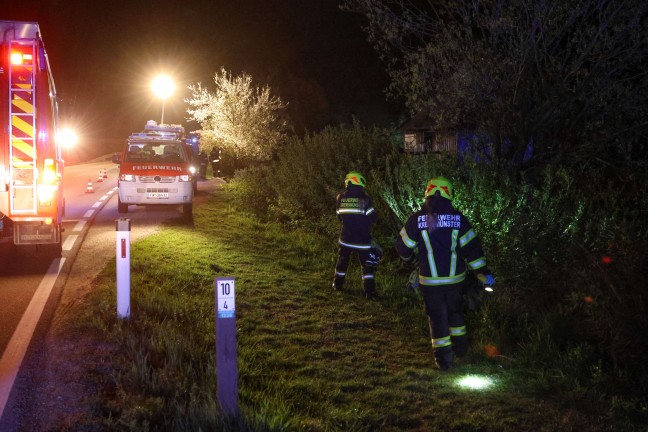
[(119, 213), (128, 213), (129, 205), (182, 204), (191, 216), (196, 168), (182, 126), (148, 121), (143, 132), (128, 137), (113, 162), (119, 164)]

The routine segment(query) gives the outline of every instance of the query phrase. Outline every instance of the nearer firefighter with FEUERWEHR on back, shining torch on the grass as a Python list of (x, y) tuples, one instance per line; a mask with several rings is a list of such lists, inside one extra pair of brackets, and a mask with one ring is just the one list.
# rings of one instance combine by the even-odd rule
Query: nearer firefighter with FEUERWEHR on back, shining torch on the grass
[(466, 270), (486, 285), (495, 278), (486, 266), (481, 242), (466, 217), (452, 205), (452, 184), (445, 177), (430, 180), (425, 204), (409, 217), (396, 238), (396, 250), (405, 262), (418, 255), (418, 285), (430, 324), (437, 367), (446, 371), (453, 357), (468, 351), (461, 287)]

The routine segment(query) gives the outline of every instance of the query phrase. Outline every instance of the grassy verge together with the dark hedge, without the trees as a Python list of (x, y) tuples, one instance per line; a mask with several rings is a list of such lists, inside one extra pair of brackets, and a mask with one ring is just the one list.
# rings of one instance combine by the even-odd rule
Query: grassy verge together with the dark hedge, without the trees
[[(328, 157), (336, 145), (367, 173), (379, 208), (379, 301), (363, 297), (355, 263), (348, 289), (330, 288), (333, 202), (352, 168)], [(455, 180), (457, 205), (475, 220), (498, 280), (467, 311), (472, 351), (450, 373), (434, 368), (422, 302), (404, 289), (411, 269), (391, 247), (425, 180), (441, 173)], [(583, 192), (593, 180), (548, 170), (525, 187), (495, 165), (404, 156), (389, 134), (359, 125), (296, 139), (276, 163), (241, 171), (196, 208), (193, 227), (178, 220), (133, 245), (130, 320), (115, 316), (114, 265), (97, 278), (95, 306), (79, 325), (120, 347), (97, 405), (101, 426), (641, 430), (647, 318), (635, 288), (645, 227), (639, 207), (621, 205), (629, 197)], [(217, 276), (237, 283), (234, 419), (220, 417), (216, 401)], [(467, 375), (493, 385), (462, 388)]]

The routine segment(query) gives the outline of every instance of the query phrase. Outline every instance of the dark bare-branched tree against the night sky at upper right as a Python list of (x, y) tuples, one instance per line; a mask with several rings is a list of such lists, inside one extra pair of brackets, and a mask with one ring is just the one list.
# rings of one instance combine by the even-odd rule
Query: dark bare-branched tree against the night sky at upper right
[(438, 128), (535, 163), (648, 159), (643, 0), (346, 0), (390, 91)]

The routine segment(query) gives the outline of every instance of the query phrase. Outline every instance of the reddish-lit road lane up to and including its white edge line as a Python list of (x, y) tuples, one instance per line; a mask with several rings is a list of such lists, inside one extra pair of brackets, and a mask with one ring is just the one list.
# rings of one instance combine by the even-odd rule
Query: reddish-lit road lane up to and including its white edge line
[[(103, 178), (103, 172), (107, 178)], [(47, 330), (83, 235), (117, 185), (109, 161), (66, 167), (62, 252), (49, 246), (0, 244), (0, 415), (5, 417), (23, 360)], [(99, 181), (100, 180), (100, 181)], [(92, 187), (91, 187), (92, 186)], [(1, 426), (0, 429), (4, 430)]]

